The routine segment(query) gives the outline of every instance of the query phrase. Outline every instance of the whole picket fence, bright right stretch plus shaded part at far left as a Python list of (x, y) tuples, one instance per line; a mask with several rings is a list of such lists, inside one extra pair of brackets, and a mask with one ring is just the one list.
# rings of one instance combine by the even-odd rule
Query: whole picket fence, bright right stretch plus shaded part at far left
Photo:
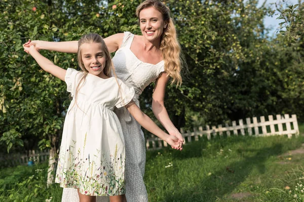
[[(205, 130), (204, 130), (205, 129)], [(243, 123), (243, 120), (232, 121), (232, 125), (226, 124), (224, 127), (222, 125), (205, 126), (194, 128), (194, 131), (191, 132), (187, 130), (184, 132), (182, 129), (180, 133), (184, 138), (184, 144), (191, 141), (198, 141), (200, 137), (206, 136), (208, 140), (216, 136), (226, 136), (230, 137), (231, 135), (249, 135), (249, 136), (269, 136), (269, 135), (287, 135), (291, 137), (293, 134), (298, 135), (299, 129), (297, 124), (296, 115), (291, 115), (291, 118), (288, 114), (284, 116), (276, 115), (276, 120), (274, 120), (272, 115), (268, 116), (268, 121), (265, 121), (265, 117), (262, 116), (246, 118), (246, 124)], [(162, 147), (168, 146), (167, 142), (161, 140), (154, 135), (151, 135), (150, 138), (146, 140), (146, 149), (155, 150)], [(16, 166), (16, 165), (26, 165), (29, 159), (34, 160), (35, 162), (43, 162), (49, 160), (49, 150), (35, 151), (29, 150), (27, 154), (12, 154), (0, 157), (0, 166)]]

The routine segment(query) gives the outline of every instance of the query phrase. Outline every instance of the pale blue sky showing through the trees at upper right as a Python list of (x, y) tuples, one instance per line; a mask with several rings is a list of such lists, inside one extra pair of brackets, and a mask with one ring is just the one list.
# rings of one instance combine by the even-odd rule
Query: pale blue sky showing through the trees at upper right
[[(261, 6), (264, 3), (264, 0), (258, 0), (258, 6)], [(273, 9), (275, 9), (275, 5), (271, 5), (272, 3), (280, 3), (283, 2), (283, 0), (267, 0), (266, 5), (270, 5)], [(303, 2), (303, 1), (302, 1)], [(287, 3), (288, 5), (295, 5), (298, 4), (298, 0), (285, 0), (285, 3)], [(276, 12), (275, 14), (278, 14), (278, 12)], [(282, 20), (277, 20), (276, 18), (278, 18), (279, 15), (273, 15), (273, 17), (266, 17), (264, 19), (264, 24), (266, 27), (271, 28), (271, 31), (269, 33), (270, 36), (275, 35), (276, 31), (279, 27), (279, 23), (282, 22)]]

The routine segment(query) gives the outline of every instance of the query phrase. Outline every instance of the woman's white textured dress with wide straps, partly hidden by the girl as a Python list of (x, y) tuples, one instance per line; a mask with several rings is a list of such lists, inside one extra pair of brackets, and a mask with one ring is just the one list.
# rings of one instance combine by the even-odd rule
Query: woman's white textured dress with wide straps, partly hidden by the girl
[[(134, 35), (125, 32), (121, 47), (113, 57), (113, 64), (118, 78), (135, 90), (133, 100), (139, 107), (138, 97), (151, 82), (164, 72), (164, 61), (156, 65), (140, 61), (130, 47)], [(126, 146), (126, 197), (128, 202), (148, 201), (143, 181), (145, 169), (145, 140), (141, 126), (125, 109), (115, 110), (123, 129)], [(62, 202), (78, 202), (76, 189), (63, 189)], [(108, 201), (108, 197), (97, 197), (97, 201)]]

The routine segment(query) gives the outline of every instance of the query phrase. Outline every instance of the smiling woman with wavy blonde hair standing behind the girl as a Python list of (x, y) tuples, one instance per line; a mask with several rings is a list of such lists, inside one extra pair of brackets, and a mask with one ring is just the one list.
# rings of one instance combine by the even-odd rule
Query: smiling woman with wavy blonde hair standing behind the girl
[[(104, 39), (113, 57), (115, 71), (121, 80), (135, 89), (135, 103), (143, 89), (156, 80), (152, 110), (170, 135), (183, 138), (171, 122), (164, 105), (169, 77), (181, 84), (180, 45), (169, 9), (158, 0), (146, 0), (137, 7), (142, 35), (118, 33)], [(77, 53), (78, 41), (31, 41), (37, 49)], [(125, 110), (117, 110), (126, 144), (126, 199), (128, 202), (148, 201), (143, 182), (145, 168), (145, 140), (140, 125)], [(63, 190), (62, 201), (77, 201), (77, 191)], [(98, 199), (99, 200), (99, 199)]]

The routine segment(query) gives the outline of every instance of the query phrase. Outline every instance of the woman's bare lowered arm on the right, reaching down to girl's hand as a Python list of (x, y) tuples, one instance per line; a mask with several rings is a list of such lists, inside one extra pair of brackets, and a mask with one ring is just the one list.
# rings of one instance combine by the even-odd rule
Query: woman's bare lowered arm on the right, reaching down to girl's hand
[(177, 137), (180, 142), (183, 142), (183, 137), (170, 120), (164, 103), (168, 79), (169, 78), (167, 77), (166, 73), (162, 73), (161, 76), (157, 79), (156, 86), (152, 95), (152, 111), (155, 117), (169, 132), (169, 134)]

